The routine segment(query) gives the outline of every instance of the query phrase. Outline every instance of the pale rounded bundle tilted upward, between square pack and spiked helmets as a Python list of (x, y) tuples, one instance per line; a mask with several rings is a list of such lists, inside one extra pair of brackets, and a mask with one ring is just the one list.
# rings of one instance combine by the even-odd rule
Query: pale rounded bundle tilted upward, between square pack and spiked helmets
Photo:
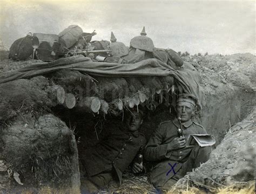
[(70, 25), (59, 33), (59, 42), (63, 47), (70, 48), (82, 38), (83, 30), (78, 25)]

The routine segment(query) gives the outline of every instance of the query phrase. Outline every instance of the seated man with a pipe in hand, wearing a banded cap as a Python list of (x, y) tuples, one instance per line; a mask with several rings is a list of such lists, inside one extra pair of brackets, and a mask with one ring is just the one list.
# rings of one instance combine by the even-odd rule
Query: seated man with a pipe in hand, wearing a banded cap
[[(177, 118), (160, 124), (145, 147), (145, 159), (156, 161), (150, 182), (160, 191), (168, 191), (188, 171), (208, 160), (210, 146), (200, 147), (197, 142), (186, 145), (190, 134), (207, 134), (205, 129), (191, 120), (196, 98), (182, 94), (176, 102)], [(180, 131), (183, 134), (178, 134)]]

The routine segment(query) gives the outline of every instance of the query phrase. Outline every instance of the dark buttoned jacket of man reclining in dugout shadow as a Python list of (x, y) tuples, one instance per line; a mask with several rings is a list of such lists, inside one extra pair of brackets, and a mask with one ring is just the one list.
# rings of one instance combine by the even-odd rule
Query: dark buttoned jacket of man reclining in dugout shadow
[(83, 160), (87, 174), (93, 176), (114, 168), (121, 183), (123, 171), (145, 145), (144, 135), (138, 131), (112, 129), (96, 146), (85, 150)]

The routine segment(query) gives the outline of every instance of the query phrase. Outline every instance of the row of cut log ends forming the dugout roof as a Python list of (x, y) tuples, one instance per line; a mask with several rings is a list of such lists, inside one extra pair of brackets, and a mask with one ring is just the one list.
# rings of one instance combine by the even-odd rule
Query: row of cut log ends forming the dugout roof
[(59, 70), (48, 77), (76, 97), (76, 111), (114, 115), (122, 113), (123, 107), (143, 105), (154, 110), (161, 103), (169, 106), (174, 88), (171, 76), (90, 77), (79, 71)]

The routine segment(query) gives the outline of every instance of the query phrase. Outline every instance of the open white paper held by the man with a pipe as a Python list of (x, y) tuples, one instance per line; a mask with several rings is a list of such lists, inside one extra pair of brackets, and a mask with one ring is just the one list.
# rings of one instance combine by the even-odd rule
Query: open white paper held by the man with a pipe
[(186, 146), (193, 145), (195, 141), (198, 143), (200, 147), (212, 146), (216, 142), (213, 135), (193, 134), (188, 136)]

